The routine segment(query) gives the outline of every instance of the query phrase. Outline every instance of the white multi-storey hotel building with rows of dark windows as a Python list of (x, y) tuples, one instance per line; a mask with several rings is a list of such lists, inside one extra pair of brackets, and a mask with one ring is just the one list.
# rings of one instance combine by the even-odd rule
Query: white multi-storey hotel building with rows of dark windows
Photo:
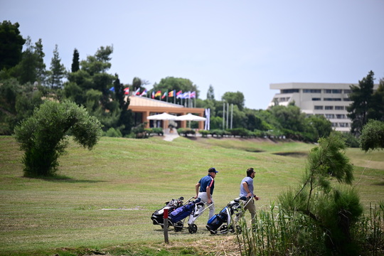
[[(321, 114), (329, 119), (336, 131), (349, 132), (351, 119), (347, 117), (347, 110), (351, 104), (348, 94), (351, 84), (346, 83), (315, 83), (315, 82), (287, 82), (270, 84), (270, 89), (280, 90), (274, 95), (270, 105), (287, 106), (290, 102), (299, 107), (305, 114)], [(357, 84), (354, 84), (357, 85)], [(373, 87), (377, 90), (378, 85)]]

